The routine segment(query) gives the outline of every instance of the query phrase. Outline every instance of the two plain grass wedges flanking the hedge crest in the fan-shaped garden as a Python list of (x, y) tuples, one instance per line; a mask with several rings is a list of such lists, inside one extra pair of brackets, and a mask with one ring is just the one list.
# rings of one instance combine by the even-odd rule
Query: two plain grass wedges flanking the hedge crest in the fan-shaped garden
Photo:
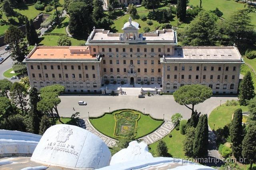
[[(139, 113), (139, 112), (137, 112)], [(92, 125), (101, 133), (112, 137), (114, 137), (114, 129), (115, 129), (115, 123), (114, 115), (113, 114), (105, 114), (103, 117), (96, 118), (96, 119), (90, 119), (90, 122)], [(147, 135), (148, 133), (154, 131), (157, 129), (163, 121), (156, 121), (148, 115), (140, 114), (140, 119), (138, 120), (137, 124), (137, 135), (136, 138), (142, 137)]]

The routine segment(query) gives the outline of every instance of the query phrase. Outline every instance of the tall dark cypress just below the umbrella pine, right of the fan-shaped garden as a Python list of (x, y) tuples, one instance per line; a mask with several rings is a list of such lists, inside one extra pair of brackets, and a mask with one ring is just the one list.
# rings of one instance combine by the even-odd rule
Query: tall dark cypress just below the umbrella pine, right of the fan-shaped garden
[(208, 154), (208, 119), (207, 115), (201, 115), (196, 126), (195, 139), (193, 143), (194, 157), (204, 158)]

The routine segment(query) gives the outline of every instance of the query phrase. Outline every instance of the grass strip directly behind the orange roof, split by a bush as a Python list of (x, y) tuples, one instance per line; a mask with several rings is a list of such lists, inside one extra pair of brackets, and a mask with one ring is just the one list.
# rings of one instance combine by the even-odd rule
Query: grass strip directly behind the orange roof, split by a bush
[[(46, 45), (46, 46), (56, 46), (57, 40), (60, 36), (58, 35), (44, 35), (42, 36), (42, 40), (40, 41), (39, 45)], [(76, 46), (80, 45), (81, 43), (85, 43), (85, 40), (75, 39), (73, 37), (68, 37), (71, 40), (71, 45)]]

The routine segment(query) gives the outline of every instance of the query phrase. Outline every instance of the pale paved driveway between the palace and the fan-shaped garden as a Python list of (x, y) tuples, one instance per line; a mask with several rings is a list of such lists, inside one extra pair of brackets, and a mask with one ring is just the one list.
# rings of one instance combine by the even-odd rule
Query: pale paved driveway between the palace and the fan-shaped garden
[[(146, 96), (146, 98), (138, 98), (138, 96), (60, 96), (61, 103), (58, 106), (60, 116), (70, 117), (72, 113), (80, 112), (80, 118), (96, 117), (104, 112), (116, 109), (137, 109), (149, 113), (152, 117), (170, 120), (174, 113), (181, 113), (184, 119), (189, 119), (191, 110), (185, 106), (181, 106), (174, 101), (172, 95), (163, 96)], [(212, 97), (205, 102), (195, 106), (197, 111), (202, 113), (210, 112), (226, 100), (237, 99), (236, 97)], [(87, 106), (79, 106), (78, 101), (87, 102)], [(73, 111), (73, 107), (75, 111)], [(109, 109), (110, 107), (110, 109)]]

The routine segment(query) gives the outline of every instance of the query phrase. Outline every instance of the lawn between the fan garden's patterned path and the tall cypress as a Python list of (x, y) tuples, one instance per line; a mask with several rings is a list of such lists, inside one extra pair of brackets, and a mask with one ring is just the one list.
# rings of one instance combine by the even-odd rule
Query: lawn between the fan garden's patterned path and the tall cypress
[[(186, 156), (184, 155), (184, 151), (182, 150), (182, 141), (184, 140), (185, 135), (180, 134), (180, 131), (176, 131), (176, 129), (174, 129), (171, 134), (171, 138), (169, 137), (169, 135), (167, 135), (162, 139), (166, 142), (166, 145), (168, 147), (168, 153), (172, 154), (172, 157), (186, 158)], [(149, 152), (151, 152), (153, 156), (158, 156), (156, 152), (157, 144), (158, 142), (149, 145), (151, 147)]]

